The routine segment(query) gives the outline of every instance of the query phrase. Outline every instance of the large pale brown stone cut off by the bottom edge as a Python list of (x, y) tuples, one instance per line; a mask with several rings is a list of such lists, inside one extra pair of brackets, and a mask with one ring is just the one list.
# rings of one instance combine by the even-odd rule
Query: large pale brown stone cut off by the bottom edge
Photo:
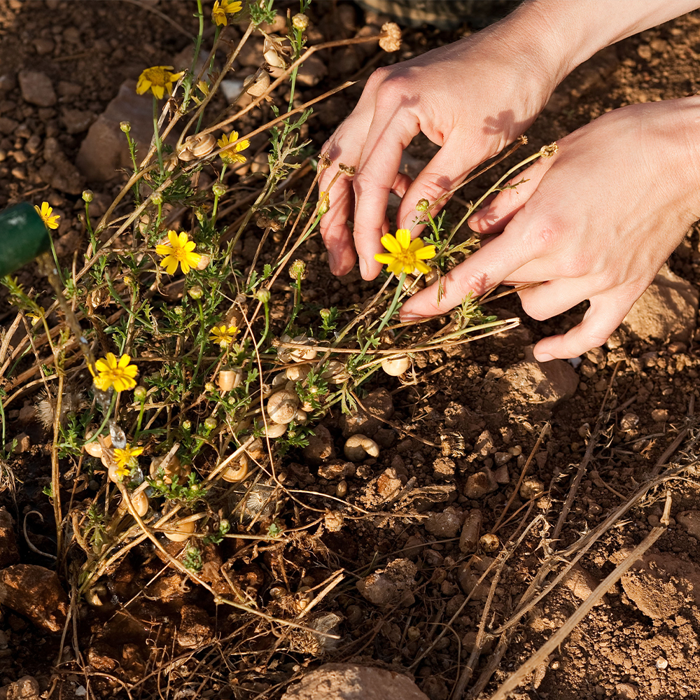
[(282, 700), (429, 700), (412, 678), (359, 664), (323, 664), (304, 675)]

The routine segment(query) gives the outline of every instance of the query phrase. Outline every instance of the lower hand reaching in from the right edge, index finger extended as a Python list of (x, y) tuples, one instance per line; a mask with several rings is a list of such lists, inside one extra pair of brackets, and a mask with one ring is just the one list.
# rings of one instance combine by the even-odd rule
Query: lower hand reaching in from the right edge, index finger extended
[(437, 285), (411, 297), (402, 320), (447, 311), (502, 281), (542, 321), (583, 300), (583, 321), (540, 340), (535, 358), (579, 356), (602, 345), (700, 214), (700, 97), (617, 109), (559, 141), (468, 221), (501, 232)]

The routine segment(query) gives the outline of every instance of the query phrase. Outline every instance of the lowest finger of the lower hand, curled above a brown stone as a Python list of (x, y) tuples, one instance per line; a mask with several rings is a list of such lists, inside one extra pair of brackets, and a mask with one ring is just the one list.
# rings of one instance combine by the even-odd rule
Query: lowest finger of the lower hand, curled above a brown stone
[(591, 297), (591, 306), (583, 321), (563, 335), (544, 338), (535, 345), (535, 359), (547, 362), (554, 358), (579, 357), (601, 346), (622, 323), (636, 300), (621, 294), (619, 288)]

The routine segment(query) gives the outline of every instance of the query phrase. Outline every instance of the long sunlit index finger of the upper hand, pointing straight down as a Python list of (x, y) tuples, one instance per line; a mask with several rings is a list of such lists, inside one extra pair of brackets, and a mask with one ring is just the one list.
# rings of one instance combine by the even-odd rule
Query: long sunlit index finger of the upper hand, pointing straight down
[(419, 133), (416, 117), (386, 100), (377, 102), (374, 119), (367, 133), (362, 160), (353, 178), (355, 190), (355, 248), (360, 258), (360, 274), (374, 279), (381, 263), (374, 255), (381, 253), (379, 243), (388, 196), (396, 181), (401, 154)]

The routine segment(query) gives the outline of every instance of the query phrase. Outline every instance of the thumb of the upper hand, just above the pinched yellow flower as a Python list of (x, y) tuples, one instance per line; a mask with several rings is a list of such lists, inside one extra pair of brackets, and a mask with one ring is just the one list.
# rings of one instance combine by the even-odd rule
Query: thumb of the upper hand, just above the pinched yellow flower
[[(462, 134), (453, 132), (440, 151), (437, 151), (428, 165), (416, 176), (398, 209), (396, 216), (398, 228), (407, 228), (412, 230), (414, 235), (418, 235), (419, 229), (414, 226), (416, 221), (425, 219), (426, 214), (418, 211), (416, 204), (420, 200), (428, 200), (433, 204), (471, 171), (474, 159), (478, 160), (478, 158), (476, 155), (465, 153), (463, 141)], [(430, 214), (436, 216), (448, 201), (449, 198), (445, 197), (435, 207), (430, 207)]]

